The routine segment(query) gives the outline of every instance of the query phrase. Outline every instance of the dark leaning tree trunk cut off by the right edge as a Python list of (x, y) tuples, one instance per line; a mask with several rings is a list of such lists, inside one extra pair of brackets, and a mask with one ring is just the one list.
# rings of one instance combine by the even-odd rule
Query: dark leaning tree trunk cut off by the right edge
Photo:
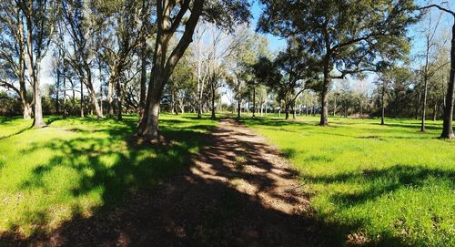
[(455, 15), (452, 26), (452, 40), (450, 49), (450, 77), (446, 94), (446, 107), (444, 108), (444, 123), (442, 125), (441, 139), (453, 139), (452, 118), (453, 118), (453, 90), (455, 84)]

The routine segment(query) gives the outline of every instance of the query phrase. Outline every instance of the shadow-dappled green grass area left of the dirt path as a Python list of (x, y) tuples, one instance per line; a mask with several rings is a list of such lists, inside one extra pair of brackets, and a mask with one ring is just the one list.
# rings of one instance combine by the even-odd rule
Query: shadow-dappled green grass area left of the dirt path
[(52, 231), (75, 215), (90, 216), (147, 190), (191, 165), (216, 121), (191, 115), (162, 115), (169, 145), (137, 146), (136, 117), (123, 121), (0, 118), (0, 233), (24, 237)]

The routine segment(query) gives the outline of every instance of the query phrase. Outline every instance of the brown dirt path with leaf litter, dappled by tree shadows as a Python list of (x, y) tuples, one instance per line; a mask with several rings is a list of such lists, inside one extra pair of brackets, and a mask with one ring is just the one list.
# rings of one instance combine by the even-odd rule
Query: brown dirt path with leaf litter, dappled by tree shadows
[(296, 174), (264, 138), (220, 120), (183, 174), (33, 245), (325, 246)]

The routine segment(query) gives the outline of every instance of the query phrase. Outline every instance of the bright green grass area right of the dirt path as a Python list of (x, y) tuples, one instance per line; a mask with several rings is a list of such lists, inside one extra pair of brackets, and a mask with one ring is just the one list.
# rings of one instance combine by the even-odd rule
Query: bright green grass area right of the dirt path
[(437, 139), (440, 121), (427, 133), (410, 119), (243, 122), (291, 161), (340, 243), (455, 246), (455, 142)]

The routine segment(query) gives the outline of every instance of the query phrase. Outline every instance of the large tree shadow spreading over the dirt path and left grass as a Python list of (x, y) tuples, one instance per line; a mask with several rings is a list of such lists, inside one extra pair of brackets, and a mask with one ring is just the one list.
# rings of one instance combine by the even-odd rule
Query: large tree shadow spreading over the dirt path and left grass
[[(56, 156), (37, 167), (23, 189), (52, 191), (45, 188), (46, 174), (69, 168), (80, 175), (71, 195), (101, 189), (102, 204), (89, 214), (83, 204), (74, 205), (71, 218), (51, 232), (45, 225), (53, 209), (31, 211), (32, 223), (43, 228), (26, 238), (13, 229), (0, 235), (0, 246), (340, 246), (345, 240), (334, 237), (336, 229), (361, 226), (319, 221), (306, 205), (291, 211), (301, 191), (282, 190), (282, 184), (278, 190), (278, 183), (298, 174), (265, 159), (277, 150), (243, 140), (252, 135), (203, 124), (176, 130), (175, 122), (163, 122), (166, 145), (137, 146), (126, 123), (106, 129), (107, 138), (57, 139), (25, 150), (52, 149)], [(127, 141), (126, 150), (115, 145), (118, 139)], [(234, 165), (240, 156), (245, 166)], [(232, 181), (247, 181), (251, 190)], [(289, 211), (274, 208), (274, 201), (288, 203)]]

